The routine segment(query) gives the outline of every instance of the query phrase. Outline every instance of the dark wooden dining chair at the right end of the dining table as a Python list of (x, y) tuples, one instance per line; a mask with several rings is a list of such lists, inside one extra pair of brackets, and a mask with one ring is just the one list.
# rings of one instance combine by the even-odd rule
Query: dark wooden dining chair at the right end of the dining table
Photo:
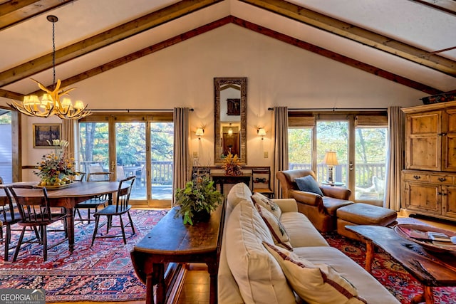
[[(119, 237), (120, 235), (109, 235), (109, 229), (113, 227), (120, 227), (122, 230), (122, 237), (123, 237), (123, 243), (127, 243), (127, 239), (125, 237), (125, 227), (128, 227), (128, 224), (130, 224), (131, 230), (133, 231), (133, 234), (135, 234), (135, 226), (133, 225), (133, 220), (131, 219), (130, 215), (130, 209), (131, 206), (129, 204), (130, 202), (130, 193), (131, 189), (133, 187), (133, 184), (135, 182), (135, 175), (131, 177), (127, 177), (126, 179), (122, 179), (119, 182), (119, 187), (117, 191), (117, 196), (115, 199), (115, 204), (108, 205), (104, 209), (96, 212), (93, 214), (95, 216), (95, 229), (93, 229), (93, 236), (92, 236), (92, 244), (90, 246), (93, 246), (93, 242), (95, 241), (95, 238), (115, 238)], [(127, 187), (125, 187), (125, 184)], [(129, 223), (126, 223), (125, 225), (123, 224), (123, 219), (122, 216), (123, 214), (128, 215), (128, 220)], [(100, 224), (100, 216), (106, 216), (106, 221), (105, 223)], [(113, 226), (113, 216), (119, 216), (119, 221), (120, 221), (120, 226)], [(101, 228), (103, 225), (106, 225), (106, 234), (97, 236), (98, 234), (98, 229)]]

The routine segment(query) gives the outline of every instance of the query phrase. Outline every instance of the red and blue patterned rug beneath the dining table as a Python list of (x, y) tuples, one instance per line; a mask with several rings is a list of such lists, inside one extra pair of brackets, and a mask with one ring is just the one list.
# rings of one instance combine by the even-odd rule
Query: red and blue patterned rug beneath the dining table
[[(125, 230), (127, 245), (120, 237), (95, 239), (90, 247), (94, 224), (84, 222), (75, 226), (73, 253), (68, 251), (68, 242), (51, 248), (46, 262), (43, 262), (42, 246), (37, 243), (21, 247), (14, 263), (11, 262), (14, 250), (10, 251), (8, 262), (4, 261), (2, 252), (0, 288), (43, 288), (46, 302), (144, 300), (145, 286), (135, 276), (130, 251), (166, 212), (132, 210), (136, 234), (131, 236), (131, 230)], [(102, 229), (104, 232), (105, 227)], [(14, 231), (14, 238), (18, 235)], [(60, 232), (49, 233), (48, 243), (56, 243), (62, 237)]]

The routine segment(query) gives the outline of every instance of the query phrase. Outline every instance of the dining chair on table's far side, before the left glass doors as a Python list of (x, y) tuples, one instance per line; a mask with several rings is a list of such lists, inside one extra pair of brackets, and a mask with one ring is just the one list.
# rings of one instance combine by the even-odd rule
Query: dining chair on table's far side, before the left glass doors
[[(90, 172), (87, 174), (87, 181), (88, 182), (108, 182), (110, 179), (110, 175), (113, 174), (112, 172)], [(81, 179), (82, 181), (83, 179)], [(76, 204), (74, 206), (74, 220), (75, 221), (87, 221), (90, 224), (90, 221), (93, 221), (90, 218), (90, 209), (94, 209), (94, 213), (98, 211), (99, 206), (106, 206), (108, 203), (109, 197), (108, 194), (95, 196), (92, 199), (88, 199), (87, 201), (81, 201), (81, 203)], [(86, 219), (83, 218), (81, 215), (80, 209), (87, 210), (87, 217)], [(76, 214), (78, 217), (76, 217)]]

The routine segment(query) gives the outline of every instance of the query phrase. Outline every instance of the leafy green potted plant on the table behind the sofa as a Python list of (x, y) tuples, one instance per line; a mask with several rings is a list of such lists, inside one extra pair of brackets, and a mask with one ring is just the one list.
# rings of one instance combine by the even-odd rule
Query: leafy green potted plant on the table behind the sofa
[(209, 221), (210, 213), (223, 201), (223, 196), (214, 187), (207, 175), (197, 176), (185, 184), (185, 188), (175, 190), (175, 203), (179, 208), (177, 216), (182, 216), (184, 224), (193, 225), (198, 221)]

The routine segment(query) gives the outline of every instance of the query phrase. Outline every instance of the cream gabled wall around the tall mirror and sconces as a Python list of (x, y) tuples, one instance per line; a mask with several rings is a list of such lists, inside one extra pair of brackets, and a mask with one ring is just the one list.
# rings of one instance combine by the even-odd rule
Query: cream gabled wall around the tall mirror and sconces
[[(248, 78), (249, 166), (273, 161), (269, 107), (388, 108), (420, 105), (420, 98), (428, 95), (228, 24), (76, 83), (71, 97), (84, 100), (92, 109), (194, 108), (191, 152), (197, 152), (199, 163), (206, 165), (214, 159), (214, 77)], [(0, 98), (0, 105), (6, 101)], [(35, 120), (24, 120), (24, 165), (35, 164), (43, 154), (42, 149), (31, 148)], [(197, 140), (194, 132), (200, 125), (207, 127), (204, 137)], [(258, 125), (266, 129), (264, 140), (257, 136)], [(263, 152), (269, 152), (268, 159)]]

